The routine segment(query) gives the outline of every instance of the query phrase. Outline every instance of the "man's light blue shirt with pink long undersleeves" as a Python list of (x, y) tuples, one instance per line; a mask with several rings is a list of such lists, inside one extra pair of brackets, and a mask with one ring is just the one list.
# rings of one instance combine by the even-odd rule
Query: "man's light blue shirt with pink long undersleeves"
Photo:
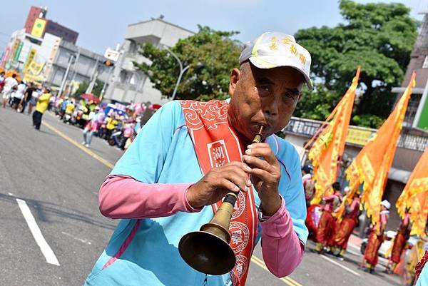
[[(307, 240), (300, 158), (285, 140), (266, 139), (281, 165), (280, 210), (258, 223), (263, 259), (278, 277), (302, 260)], [(85, 285), (202, 285), (178, 253), (186, 233), (213, 218), (213, 208), (192, 208), (188, 187), (202, 178), (180, 103), (165, 104), (143, 127), (100, 189), (100, 210), (122, 219)], [(255, 192), (255, 203), (260, 199)], [(231, 285), (230, 275), (208, 276), (208, 285)]]

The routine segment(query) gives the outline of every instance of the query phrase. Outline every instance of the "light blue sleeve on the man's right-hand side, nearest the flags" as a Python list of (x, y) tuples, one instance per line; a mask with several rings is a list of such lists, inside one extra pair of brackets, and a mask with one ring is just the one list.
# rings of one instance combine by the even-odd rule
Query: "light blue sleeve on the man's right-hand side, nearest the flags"
[(290, 213), (295, 233), (306, 244), (308, 236), (305, 225), (306, 202), (299, 154), (291, 143), (279, 138), (278, 140), (282, 141), (280, 142), (280, 149), (282, 150), (280, 150), (278, 157), (282, 168), (285, 168), (287, 173), (287, 178), (280, 180), (280, 194), (285, 200), (285, 208)]

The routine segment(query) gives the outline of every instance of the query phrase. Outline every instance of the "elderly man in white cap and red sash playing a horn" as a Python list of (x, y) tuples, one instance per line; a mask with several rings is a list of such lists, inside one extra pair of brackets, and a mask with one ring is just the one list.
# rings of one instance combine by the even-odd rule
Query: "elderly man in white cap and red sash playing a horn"
[[(310, 54), (271, 32), (245, 44), (230, 74), (230, 102), (173, 101), (136, 137), (100, 189), (103, 215), (121, 218), (86, 285), (245, 285), (256, 243), (277, 277), (302, 260), (307, 240), (300, 159), (274, 135), (309, 78)], [(260, 126), (263, 143), (252, 143)], [(229, 231), (236, 264), (206, 276), (180, 257), (178, 242), (238, 193)]]

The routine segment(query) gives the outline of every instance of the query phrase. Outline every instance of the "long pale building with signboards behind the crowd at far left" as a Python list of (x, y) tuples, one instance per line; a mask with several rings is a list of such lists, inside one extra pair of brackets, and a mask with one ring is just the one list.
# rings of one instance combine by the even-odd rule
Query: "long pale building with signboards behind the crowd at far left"
[[(106, 60), (104, 56), (63, 41), (60, 37), (49, 33), (39, 38), (26, 33), (25, 29), (14, 31), (6, 51), (7, 58), (2, 60), (5, 68), (22, 73), (26, 81), (37, 81), (54, 87), (61, 86), (71, 56), (73, 59), (66, 78), (67, 83), (91, 81), (96, 73), (100, 81), (106, 82), (108, 78), (108, 70), (103, 65), (103, 61)], [(38, 73), (31, 73), (26, 68), (31, 62), (40, 67)]]

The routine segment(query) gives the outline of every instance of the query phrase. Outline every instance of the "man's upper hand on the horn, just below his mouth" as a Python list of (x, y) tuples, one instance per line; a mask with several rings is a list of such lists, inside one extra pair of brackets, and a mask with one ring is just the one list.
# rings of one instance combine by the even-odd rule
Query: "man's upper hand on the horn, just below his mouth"
[[(263, 158), (263, 159), (261, 159)], [(261, 201), (263, 214), (270, 216), (281, 207), (278, 191), (281, 168), (275, 154), (267, 143), (253, 143), (243, 156), (244, 162), (250, 165), (251, 180)]]

